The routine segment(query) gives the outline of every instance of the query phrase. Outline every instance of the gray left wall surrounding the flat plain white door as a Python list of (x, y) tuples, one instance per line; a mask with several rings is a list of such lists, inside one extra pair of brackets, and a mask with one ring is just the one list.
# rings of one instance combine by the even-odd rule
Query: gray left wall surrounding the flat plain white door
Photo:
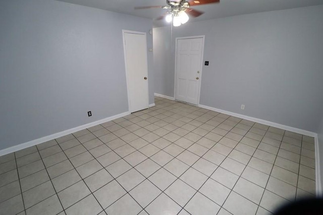
[[(1, 1), (0, 18), (0, 150), (128, 111), (122, 29), (149, 48), (151, 20), (52, 0)], [(149, 104), (152, 70), (148, 52)]]

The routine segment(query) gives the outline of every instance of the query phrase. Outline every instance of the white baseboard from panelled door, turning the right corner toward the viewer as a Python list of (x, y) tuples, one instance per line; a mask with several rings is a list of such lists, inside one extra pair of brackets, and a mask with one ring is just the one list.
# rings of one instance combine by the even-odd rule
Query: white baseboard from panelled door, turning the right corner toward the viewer
[(300, 133), (300, 134), (303, 134), (303, 135), (314, 137), (314, 141), (315, 141), (315, 187), (316, 187), (316, 196), (322, 196), (322, 186), (321, 186), (321, 175), (320, 175), (320, 163), (319, 163), (319, 149), (318, 149), (317, 133), (307, 131), (307, 130), (303, 130), (303, 129), (299, 129), (299, 128), (290, 127), (290, 126), (287, 126), (287, 125), (282, 125), (282, 124), (279, 124), (279, 123), (276, 123), (276, 122), (266, 121), (266, 120), (263, 120), (263, 119), (258, 119), (258, 118), (238, 114), (238, 113), (233, 113), (233, 112), (230, 112), (230, 111), (221, 110), (221, 109), (218, 109), (218, 108), (213, 108), (213, 107), (209, 107), (209, 106), (205, 106), (205, 105), (201, 105), (201, 104), (199, 104), (198, 107), (205, 108), (207, 110), (216, 111), (216, 112), (219, 112), (219, 113), (228, 114), (228, 115), (231, 115), (231, 116), (239, 117), (239, 118), (250, 120), (250, 121), (253, 121), (253, 122), (258, 122), (258, 123), (261, 123), (261, 124), (281, 128), (281, 129), (292, 131), (292, 132), (295, 132), (295, 133)]

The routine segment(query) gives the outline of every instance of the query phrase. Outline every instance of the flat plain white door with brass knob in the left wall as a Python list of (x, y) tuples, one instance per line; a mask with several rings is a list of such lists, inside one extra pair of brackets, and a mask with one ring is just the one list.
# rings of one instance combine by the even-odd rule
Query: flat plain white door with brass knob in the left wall
[(129, 111), (132, 113), (148, 108), (146, 33), (123, 31), (123, 37)]

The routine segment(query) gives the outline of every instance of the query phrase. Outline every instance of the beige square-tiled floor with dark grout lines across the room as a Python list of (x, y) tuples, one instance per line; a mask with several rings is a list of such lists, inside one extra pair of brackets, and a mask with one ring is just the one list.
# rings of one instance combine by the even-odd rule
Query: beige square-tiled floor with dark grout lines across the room
[(0, 157), (0, 214), (271, 214), (314, 195), (312, 137), (155, 104)]

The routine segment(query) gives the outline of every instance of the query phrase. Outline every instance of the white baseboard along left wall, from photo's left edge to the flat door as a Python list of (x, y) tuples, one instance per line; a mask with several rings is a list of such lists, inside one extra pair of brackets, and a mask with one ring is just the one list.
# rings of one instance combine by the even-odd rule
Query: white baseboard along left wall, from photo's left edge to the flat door
[(102, 124), (104, 122), (109, 122), (111, 120), (114, 120), (114, 119), (129, 115), (129, 114), (130, 114), (130, 112), (127, 111), (127, 112), (120, 113), (120, 114), (117, 114), (117, 115), (114, 115), (114, 116), (111, 116), (111, 117), (107, 117), (107, 118), (104, 118), (104, 119), (97, 120), (95, 122), (90, 122), (88, 124), (80, 125), (78, 127), (74, 127), (74, 128), (64, 130), (64, 131), (61, 131), (61, 132), (58, 132), (58, 133), (50, 134), (48, 136), (43, 136), (43, 137), (40, 137), (38, 139), (34, 139), (34, 140), (31, 140), (31, 141), (28, 141), (28, 142), (24, 142), (23, 144), (19, 144), (17, 146), (13, 146), (13, 147), (9, 147), (7, 149), (0, 150), (0, 156), (7, 155), (7, 154), (13, 153), (13, 152), (17, 152), (19, 150), (23, 150), (23, 149), (26, 149), (28, 147), (35, 146), (37, 144), (41, 144), (42, 142), (46, 142), (46, 141), (49, 141), (49, 140), (52, 140), (52, 139), (56, 139), (56, 138), (59, 138), (61, 136), (65, 136), (67, 134), (74, 133), (74, 132), (79, 131), (79, 130), (83, 130), (85, 128), (89, 128), (89, 127), (92, 127), (92, 126), (95, 126), (95, 125), (98, 125), (98, 124)]

